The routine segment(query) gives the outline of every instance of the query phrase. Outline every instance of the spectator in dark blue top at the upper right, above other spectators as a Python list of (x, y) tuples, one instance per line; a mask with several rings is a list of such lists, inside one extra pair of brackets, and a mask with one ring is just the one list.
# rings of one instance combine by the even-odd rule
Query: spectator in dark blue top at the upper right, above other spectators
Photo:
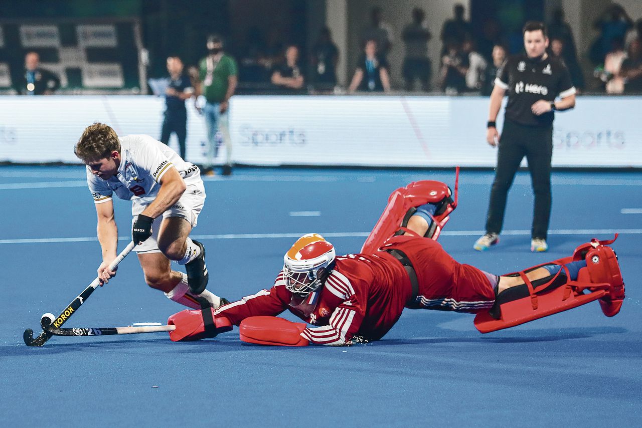
[(600, 36), (589, 51), (591, 61), (601, 64), (607, 53), (612, 51), (614, 40), (624, 40), (632, 26), (633, 21), (620, 4), (611, 4), (606, 8), (593, 22), (593, 28), (600, 31)]

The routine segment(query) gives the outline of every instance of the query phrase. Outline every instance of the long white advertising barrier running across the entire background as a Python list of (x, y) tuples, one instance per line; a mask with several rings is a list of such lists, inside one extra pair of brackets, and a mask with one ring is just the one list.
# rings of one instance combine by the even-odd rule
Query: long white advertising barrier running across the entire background
[[(188, 101), (187, 159), (204, 161), (205, 123)], [(399, 96), (235, 96), (232, 158), (250, 165), (494, 167), (488, 99)], [(558, 113), (553, 166), (642, 167), (642, 98), (580, 97)], [(153, 96), (0, 97), (0, 161), (77, 163), (88, 124), (159, 137)], [(501, 114), (498, 125), (501, 128)], [(175, 136), (170, 146), (177, 150)], [(220, 150), (218, 163), (225, 158)]]

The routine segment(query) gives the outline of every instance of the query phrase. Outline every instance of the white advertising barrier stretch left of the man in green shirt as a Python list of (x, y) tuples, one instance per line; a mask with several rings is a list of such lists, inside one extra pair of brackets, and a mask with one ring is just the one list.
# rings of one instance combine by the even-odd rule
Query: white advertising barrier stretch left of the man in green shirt
[[(164, 98), (154, 96), (0, 96), (0, 162), (79, 163), (74, 144), (86, 126), (107, 123), (119, 135), (160, 138)], [(190, 106), (187, 158), (202, 160), (202, 117)], [(172, 135), (170, 144), (178, 151)]]

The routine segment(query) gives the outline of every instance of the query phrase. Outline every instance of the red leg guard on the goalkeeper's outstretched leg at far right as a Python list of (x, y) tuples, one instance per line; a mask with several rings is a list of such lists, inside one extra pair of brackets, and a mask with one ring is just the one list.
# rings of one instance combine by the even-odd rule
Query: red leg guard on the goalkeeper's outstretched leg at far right
[[(616, 235), (617, 238), (617, 235)], [(571, 257), (564, 257), (553, 262), (544, 263), (525, 271), (508, 275), (519, 275), (528, 287), (528, 295), (516, 300), (501, 302), (500, 293), (496, 306), (499, 305), (499, 319), (492, 311), (479, 312), (475, 316), (475, 327), (482, 333), (507, 329), (528, 321), (537, 320), (544, 316), (566, 311), (580, 305), (600, 299), (602, 312), (606, 316), (614, 316), (620, 311), (624, 299), (624, 283), (620, 266), (612, 248), (606, 246), (612, 241), (597, 241), (582, 244), (575, 249)], [(587, 267), (582, 268), (575, 281), (567, 280), (566, 284), (550, 289), (551, 284), (559, 276), (546, 284), (533, 287), (526, 278), (526, 271), (534, 270), (545, 264), (566, 264), (572, 261), (586, 259)], [(566, 268), (565, 268), (566, 269)], [(568, 272), (566, 273), (568, 278)], [(559, 278), (557, 278), (559, 279)], [(521, 286), (520, 286), (521, 287)], [(509, 289), (510, 290), (510, 289)]]

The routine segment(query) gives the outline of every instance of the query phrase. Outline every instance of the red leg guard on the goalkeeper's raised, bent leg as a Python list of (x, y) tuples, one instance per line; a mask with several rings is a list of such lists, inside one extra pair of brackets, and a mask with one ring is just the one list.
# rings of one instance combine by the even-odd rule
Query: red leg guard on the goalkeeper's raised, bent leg
[(379, 217), (379, 221), (372, 228), (372, 232), (365, 240), (361, 253), (375, 253), (383, 243), (398, 232), (403, 226), (404, 221), (408, 221), (406, 215), (409, 210), (420, 207), (425, 203), (438, 203), (444, 201), (447, 203), (445, 209), (440, 210), (434, 216), (435, 230), (430, 236), (437, 241), (441, 230), (450, 219), (449, 215), (457, 206), (457, 183), (459, 179), (459, 168), (456, 169), (455, 179), (455, 200), (448, 200), (451, 191), (448, 186), (442, 182), (433, 180), (421, 180), (412, 182), (406, 187), (400, 187), (390, 194), (388, 205)]

